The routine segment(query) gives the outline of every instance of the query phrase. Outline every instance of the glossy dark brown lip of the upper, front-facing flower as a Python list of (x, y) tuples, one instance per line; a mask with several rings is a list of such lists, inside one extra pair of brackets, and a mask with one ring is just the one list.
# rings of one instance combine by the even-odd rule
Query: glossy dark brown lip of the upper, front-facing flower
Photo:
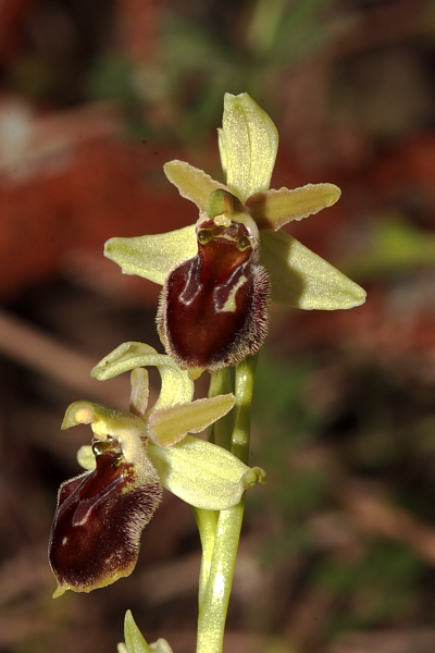
[(197, 239), (197, 256), (170, 273), (158, 311), (166, 350), (194, 373), (236, 365), (260, 349), (270, 295), (269, 275), (252, 262), (252, 238), (243, 222), (202, 221)]

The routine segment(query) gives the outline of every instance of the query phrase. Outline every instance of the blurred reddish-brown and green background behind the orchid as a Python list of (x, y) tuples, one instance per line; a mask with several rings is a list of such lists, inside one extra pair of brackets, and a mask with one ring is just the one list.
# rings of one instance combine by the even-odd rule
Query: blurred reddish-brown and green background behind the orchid
[(159, 288), (103, 243), (196, 219), (162, 164), (219, 177), (225, 91), (275, 121), (274, 187), (341, 187), (290, 231), (369, 292), (273, 310), (226, 652), (435, 650), (434, 63), (433, 0), (0, 1), (1, 653), (115, 651), (127, 608), (195, 649), (188, 506), (166, 495), (135, 572), (89, 595), (51, 599), (46, 549), (90, 435), (66, 406), (126, 407), (90, 367), (160, 347)]

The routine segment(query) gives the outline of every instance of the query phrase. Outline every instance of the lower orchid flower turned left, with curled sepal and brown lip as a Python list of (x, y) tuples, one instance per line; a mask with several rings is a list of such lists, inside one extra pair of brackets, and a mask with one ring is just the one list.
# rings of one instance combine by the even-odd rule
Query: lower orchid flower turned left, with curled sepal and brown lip
[[(156, 365), (162, 391), (147, 410), (148, 375)], [(198, 433), (234, 406), (232, 394), (192, 402), (192, 382), (173, 360), (140, 343), (125, 343), (92, 370), (109, 379), (132, 372), (130, 411), (75, 402), (62, 429), (91, 426), (91, 446), (78, 452), (86, 471), (64, 482), (50, 537), (49, 559), (65, 590), (90, 592), (128, 576), (139, 539), (162, 496), (162, 488), (197, 508), (225, 510), (244, 491), (264, 480), (226, 449), (187, 433)]]

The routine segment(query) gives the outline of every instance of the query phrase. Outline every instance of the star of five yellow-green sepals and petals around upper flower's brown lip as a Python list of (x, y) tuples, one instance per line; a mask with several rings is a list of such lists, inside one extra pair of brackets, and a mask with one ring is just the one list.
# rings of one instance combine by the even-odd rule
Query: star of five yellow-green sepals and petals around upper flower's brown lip
[[(211, 194), (223, 188), (236, 196), (260, 230), (260, 264), (271, 278), (272, 300), (302, 309), (335, 310), (363, 304), (365, 292), (286, 232), (291, 220), (334, 205), (340, 190), (333, 184), (269, 190), (277, 151), (277, 132), (269, 115), (247, 95), (225, 95), (219, 147), (226, 185), (184, 161), (170, 161), (164, 172), (181, 195), (207, 217)], [(198, 251), (195, 225), (166, 234), (111, 238), (104, 254), (125, 274), (163, 284), (170, 272)]]

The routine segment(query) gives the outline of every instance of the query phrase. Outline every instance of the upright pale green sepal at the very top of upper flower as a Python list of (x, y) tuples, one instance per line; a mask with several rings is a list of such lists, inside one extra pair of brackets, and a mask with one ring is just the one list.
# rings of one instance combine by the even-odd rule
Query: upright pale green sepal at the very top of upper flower
[(277, 148), (278, 133), (269, 115), (247, 93), (226, 93), (219, 149), (226, 184), (243, 202), (268, 190)]

